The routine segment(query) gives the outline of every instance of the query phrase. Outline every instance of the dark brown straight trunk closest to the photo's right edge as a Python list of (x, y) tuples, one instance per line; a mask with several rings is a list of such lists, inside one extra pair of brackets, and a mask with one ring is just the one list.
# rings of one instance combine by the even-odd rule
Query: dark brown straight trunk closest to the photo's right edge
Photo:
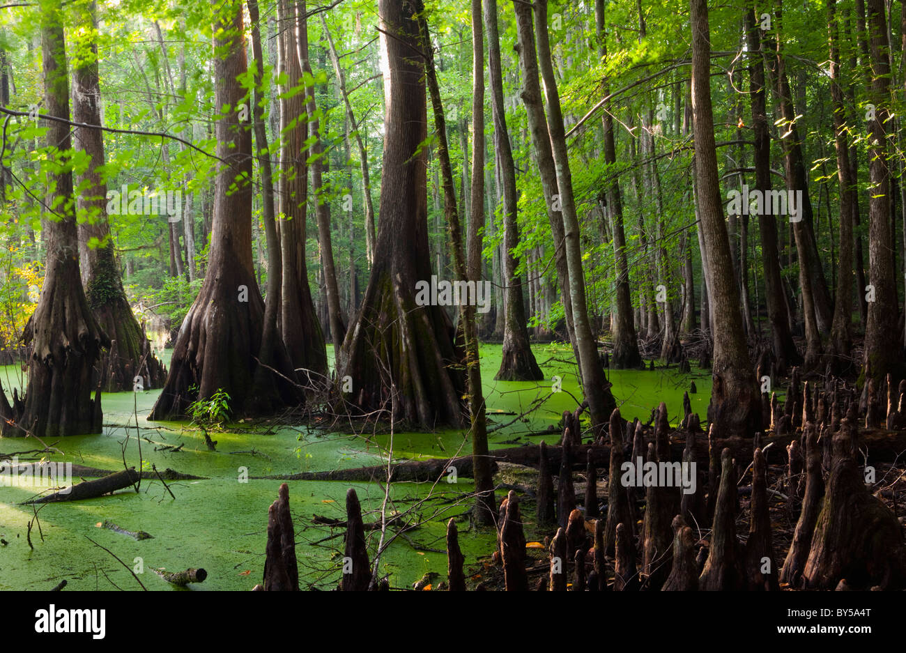
[[(891, 62), (887, 41), (887, 19), (883, 0), (868, 0), (867, 30), (872, 67), (872, 87), (869, 97), (874, 104), (873, 120), (869, 121), (870, 156), (869, 178), (871, 194), (868, 199), (868, 283), (874, 301), (868, 302), (868, 322), (865, 325), (865, 359), (872, 378), (880, 382), (892, 372), (903, 375), (902, 351), (897, 333), (897, 282), (893, 265), (891, 240), (891, 170), (888, 161), (888, 130), (891, 129)], [(895, 350), (892, 348), (896, 347)], [(867, 379), (866, 379), (867, 380)]]

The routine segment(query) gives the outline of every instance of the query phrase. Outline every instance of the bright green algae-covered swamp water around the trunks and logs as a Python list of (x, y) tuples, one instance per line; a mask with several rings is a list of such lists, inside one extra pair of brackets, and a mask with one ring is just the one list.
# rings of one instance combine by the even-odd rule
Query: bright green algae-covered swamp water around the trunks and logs
[[(499, 427), (489, 434), (492, 449), (536, 445), (543, 439), (557, 442), (563, 411), (573, 410), (581, 399), (569, 347), (538, 344), (533, 351), (545, 380), (498, 382), (493, 379), (500, 365), (500, 346), (482, 345), (488, 427)], [(651, 408), (665, 401), (670, 423), (675, 425), (681, 416), (683, 392), (692, 380), (698, 387), (689, 396), (692, 409), (702, 418), (707, 412), (710, 374), (705, 370), (692, 370), (691, 374), (679, 374), (675, 367), (609, 370), (607, 376), (625, 418), (647, 420)], [(4, 368), (0, 381), (6, 392), (21, 388), (21, 371)], [(467, 455), (471, 450), (467, 431), (462, 429), (395, 432), (391, 436), (386, 427), (380, 433), (356, 435), (302, 424), (238, 423), (212, 432), (217, 450), (208, 451), (202, 432), (188, 422), (146, 419), (158, 393), (104, 394), (103, 433), (46, 441), (60, 453), (20, 454), (19, 462), (43, 457), (116, 471), (123, 468), (125, 457), (129, 466), (146, 471), (153, 465), (159, 471), (172, 468), (204, 478), (168, 481), (175, 499), (159, 480), (146, 478), (139, 492), (127, 488), (87, 501), (34, 507), (21, 502), (49, 494), (48, 485), (34, 485), (34, 479), (0, 485), (0, 590), (48, 590), (63, 580), (68, 582), (67, 590), (140, 590), (130, 571), (94, 543), (116, 554), (149, 590), (177, 589), (151, 571), (152, 567), (167, 571), (205, 568), (207, 580), (190, 586), (190, 591), (251, 590), (262, 579), (267, 509), (282, 483), (255, 476), (381, 465), (386, 464), (389, 452), (399, 461)], [(0, 439), (3, 455), (41, 448), (31, 437)], [(81, 481), (78, 477), (72, 480)], [(302, 589), (331, 589), (341, 576), (344, 529), (314, 524), (313, 515), (343, 521), (346, 490), (352, 486), (361, 500), (365, 522), (379, 521), (385, 486), (377, 482), (287, 483)], [(437, 484), (391, 485), (387, 513), (410, 511), (407, 521), (424, 521), (402, 536), (387, 532), (392, 543), (381, 556), (381, 575), (390, 574), (392, 587), (410, 587), (431, 571), (446, 578), (446, 523), (467, 511), (471, 490), (467, 478), (458, 478), (456, 483), (441, 479)], [(525, 515), (526, 520), (531, 517)], [(105, 520), (152, 537), (132, 540), (102, 528)], [(30, 533), (29, 523), (33, 523)], [(379, 531), (367, 533), (372, 556), (380, 535)], [(477, 558), (493, 551), (495, 533), (492, 529), (476, 531), (462, 522), (459, 542), (467, 571), (477, 573)]]

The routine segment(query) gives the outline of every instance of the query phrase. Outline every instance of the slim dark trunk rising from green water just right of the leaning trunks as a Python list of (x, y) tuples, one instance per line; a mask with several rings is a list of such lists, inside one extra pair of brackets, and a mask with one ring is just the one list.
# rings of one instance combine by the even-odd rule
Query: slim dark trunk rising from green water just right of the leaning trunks
[[(605, 0), (595, 0), (594, 16), (597, 26), (598, 39), (601, 48), (601, 60), (607, 61), (607, 32), (604, 21)], [(604, 97), (610, 95), (610, 82), (604, 82), (602, 88)], [(602, 112), (602, 126), (604, 129), (604, 163), (616, 164), (616, 147), (613, 139), (613, 117), (610, 101), (604, 105)], [(606, 189), (607, 213), (611, 218), (613, 232), (613, 256), (616, 264), (617, 289), (616, 289), (616, 317), (613, 320), (613, 356), (611, 365), (618, 370), (638, 368), (642, 365), (639, 353), (639, 341), (632, 322), (632, 301), (629, 290), (629, 262), (626, 257), (626, 235), (623, 231), (622, 195), (620, 192), (620, 179), (614, 175), (612, 183)]]

